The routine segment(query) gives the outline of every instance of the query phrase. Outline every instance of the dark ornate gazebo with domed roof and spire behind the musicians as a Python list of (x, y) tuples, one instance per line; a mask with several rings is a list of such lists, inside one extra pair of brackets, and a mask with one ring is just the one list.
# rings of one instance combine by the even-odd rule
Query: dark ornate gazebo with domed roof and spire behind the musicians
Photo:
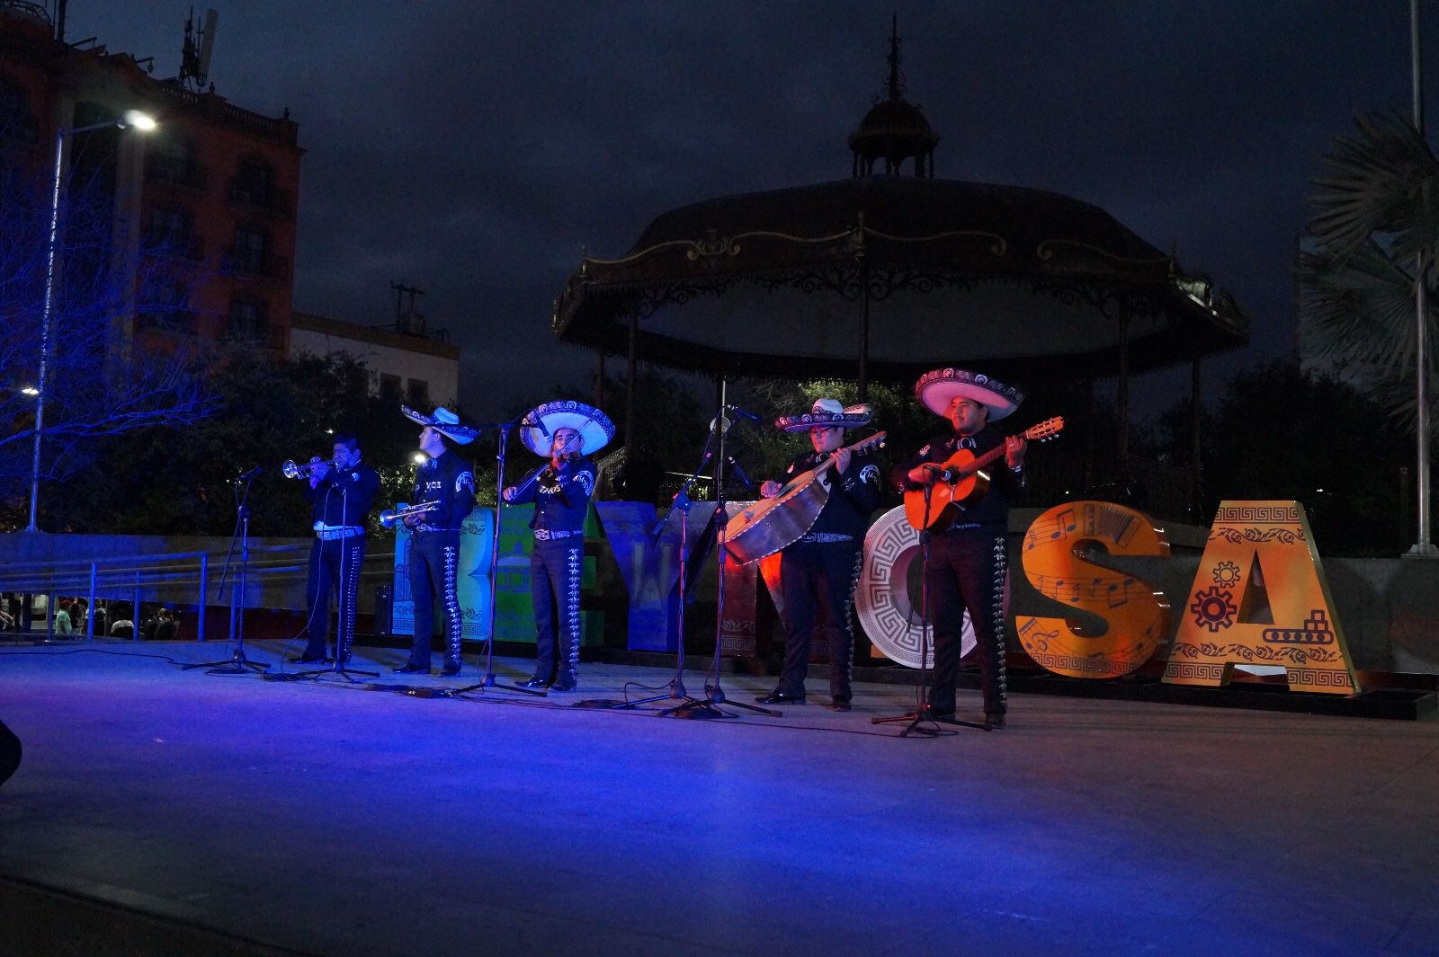
[(948, 362), (1020, 381), (1115, 376), (1122, 464), (1130, 376), (1189, 362), (1197, 398), (1202, 358), (1243, 345), (1248, 320), (1097, 205), (935, 178), (937, 144), (904, 98), (892, 36), (885, 95), (849, 138), (850, 178), (663, 213), (623, 256), (580, 262), (555, 338), (602, 368), (623, 355), (629, 381), (640, 361), (717, 379), (856, 379), (862, 397)]

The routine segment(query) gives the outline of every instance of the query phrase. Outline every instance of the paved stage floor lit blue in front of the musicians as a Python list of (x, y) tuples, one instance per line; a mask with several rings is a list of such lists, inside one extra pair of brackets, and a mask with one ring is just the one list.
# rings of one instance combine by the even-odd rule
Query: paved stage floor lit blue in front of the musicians
[(1439, 954), (1432, 718), (1016, 695), (901, 740), (899, 685), (699, 721), (574, 707), (655, 668), (456, 700), (165, 660), (223, 654), (0, 648), (0, 953)]

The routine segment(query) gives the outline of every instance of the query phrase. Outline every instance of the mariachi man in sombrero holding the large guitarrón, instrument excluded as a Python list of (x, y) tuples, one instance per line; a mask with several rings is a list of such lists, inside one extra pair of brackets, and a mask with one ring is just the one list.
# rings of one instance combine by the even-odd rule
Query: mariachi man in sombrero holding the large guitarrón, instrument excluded
[[(802, 415), (776, 420), (776, 428), (809, 433), (814, 450), (794, 457), (787, 477), (803, 474), (835, 458), (832, 489), (814, 524), (780, 555), (780, 595), (784, 604), (784, 671), (780, 684), (761, 704), (802, 704), (804, 674), (809, 671), (810, 638), (829, 635), (830, 707), (848, 711), (855, 634), (849, 608), (859, 579), (859, 566), (869, 516), (879, 506), (879, 466), (865, 453), (842, 448), (845, 430), (869, 424), (871, 405), (845, 407), (839, 399), (816, 399)], [(783, 484), (766, 481), (760, 494), (773, 499)]]

